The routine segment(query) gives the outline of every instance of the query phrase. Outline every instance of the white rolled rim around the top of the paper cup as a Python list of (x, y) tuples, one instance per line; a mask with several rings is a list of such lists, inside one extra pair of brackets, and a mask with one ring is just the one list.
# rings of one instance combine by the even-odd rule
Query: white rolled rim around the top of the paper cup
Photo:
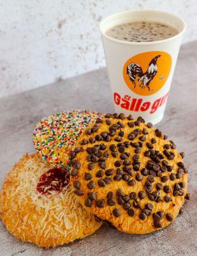
[[(106, 33), (103, 31), (103, 29), (101, 28), (103, 26), (103, 23), (106, 22), (107, 19), (110, 19), (110, 18), (113, 18), (117, 15), (120, 15), (120, 14), (124, 14), (124, 13), (134, 13), (134, 12), (155, 12), (155, 13), (164, 13), (164, 14), (167, 14), (167, 15), (170, 15), (171, 17), (174, 17), (175, 19), (177, 20), (180, 20), (180, 22), (182, 22), (182, 30), (179, 31), (179, 33), (177, 33), (177, 35), (175, 36), (171, 36), (169, 38), (166, 38), (166, 39), (163, 39), (163, 40), (157, 40), (157, 41), (152, 41), (152, 42), (128, 42), (128, 41), (123, 41), (123, 40), (119, 40), (119, 39), (115, 39), (111, 36), (108, 36), (106, 35)], [(164, 42), (168, 42), (170, 40), (174, 40), (175, 38), (179, 37), (180, 35), (182, 35), (185, 31), (186, 31), (186, 28), (187, 28), (187, 24), (185, 22), (184, 19), (182, 19), (181, 17), (173, 14), (173, 13), (170, 13), (170, 12), (164, 12), (164, 11), (161, 11), (161, 10), (150, 10), (150, 9), (145, 9), (145, 10), (127, 10), (127, 11), (123, 11), (123, 12), (117, 12), (117, 13), (114, 13), (112, 15), (109, 15), (108, 17), (106, 17), (105, 19), (101, 20), (100, 24), (99, 24), (99, 31), (101, 33), (102, 36), (104, 36), (105, 38), (107, 38), (108, 40), (112, 41), (112, 42), (117, 42), (119, 44), (125, 44), (125, 45), (154, 45), (154, 44), (163, 44)]]

